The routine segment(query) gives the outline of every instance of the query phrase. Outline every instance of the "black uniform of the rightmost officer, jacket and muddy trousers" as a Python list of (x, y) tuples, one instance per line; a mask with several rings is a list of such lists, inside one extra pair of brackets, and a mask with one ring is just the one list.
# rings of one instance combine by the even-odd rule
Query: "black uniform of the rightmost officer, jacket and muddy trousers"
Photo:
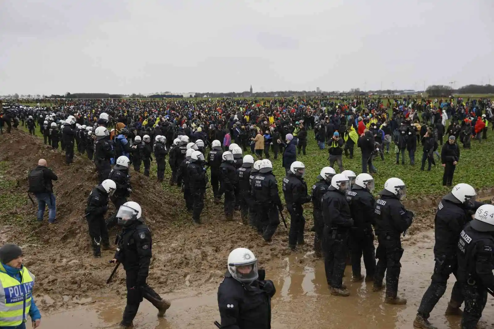
[(487, 290), (494, 290), (493, 250), (493, 232), (477, 231), (472, 222), (461, 231), (457, 245), (457, 279), (465, 298), (461, 329), (477, 328), (487, 303)]

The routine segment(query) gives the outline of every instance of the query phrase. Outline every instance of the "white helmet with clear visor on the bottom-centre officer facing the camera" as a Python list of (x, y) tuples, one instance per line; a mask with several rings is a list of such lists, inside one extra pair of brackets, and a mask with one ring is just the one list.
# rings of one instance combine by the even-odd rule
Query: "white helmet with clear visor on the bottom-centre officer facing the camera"
[(257, 258), (247, 248), (237, 248), (228, 255), (228, 272), (242, 283), (251, 283), (259, 277)]

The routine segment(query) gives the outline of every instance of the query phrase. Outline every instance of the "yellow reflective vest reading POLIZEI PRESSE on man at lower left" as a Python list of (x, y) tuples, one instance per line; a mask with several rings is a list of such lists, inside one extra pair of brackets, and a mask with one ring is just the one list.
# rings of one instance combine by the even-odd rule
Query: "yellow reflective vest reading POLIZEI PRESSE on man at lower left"
[(35, 276), (26, 267), (20, 273), (22, 283), (0, 271), (0, 327), (19, 326), (29, 314)]

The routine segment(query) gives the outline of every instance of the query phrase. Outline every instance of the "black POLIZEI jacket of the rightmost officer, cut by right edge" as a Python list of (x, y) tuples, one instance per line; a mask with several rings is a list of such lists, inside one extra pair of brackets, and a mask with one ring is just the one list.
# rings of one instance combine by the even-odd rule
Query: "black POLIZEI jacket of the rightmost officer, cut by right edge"
[[(460, 283), (473, 283), (494, 289), (493, 232), (479, 232), (468, 223), (460, 232), (457, 244)], [(470, 280), (469, 280), (470, 279)]]

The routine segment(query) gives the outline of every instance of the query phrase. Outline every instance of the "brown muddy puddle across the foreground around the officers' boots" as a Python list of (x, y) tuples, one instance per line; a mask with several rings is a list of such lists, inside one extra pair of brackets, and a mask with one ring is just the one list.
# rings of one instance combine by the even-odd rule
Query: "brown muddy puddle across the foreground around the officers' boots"
[[(406, 237), (405, 240), (398, 293), (408, 299), (407, 305), (384, 304), (384, 292), (372, 292), (372, 283), (351, 283), (349, 266), (343, 281), (351, 295), (332, 296), (326, 284), (322, 259), (315, 259), (311, 254), (288, 256), (281, 260), (284, 264), (281, 269), (267, 273), (277, 289), (272, 302), (272, 328), (413, 328), (416, 310), (430, 283), (433, 269), (433, 231)], [(453, 280), (452, 276), (447, 292), (429, 319), (439, 329), (459, 328), (460, 317), (444, 315)], [(215, 285), (208, 286), (203, 292), (174, 292), (164, 297), (172, 301), (165, 319), (158, 319), (156, 309), (144, 301), (134, 320), (134, 328), (215, 328), (213, 321), (219, 320)], [(51, 329), (67, 328), (68, 324), (81, 329), (118, 328), (123, 309), (124, 298), (103, 300), (87, 308), (45, 315), (42, 324)], [(489, 297), (481, 322), (490, 328), (494, 323), (493, 310), (494, 300)]]

